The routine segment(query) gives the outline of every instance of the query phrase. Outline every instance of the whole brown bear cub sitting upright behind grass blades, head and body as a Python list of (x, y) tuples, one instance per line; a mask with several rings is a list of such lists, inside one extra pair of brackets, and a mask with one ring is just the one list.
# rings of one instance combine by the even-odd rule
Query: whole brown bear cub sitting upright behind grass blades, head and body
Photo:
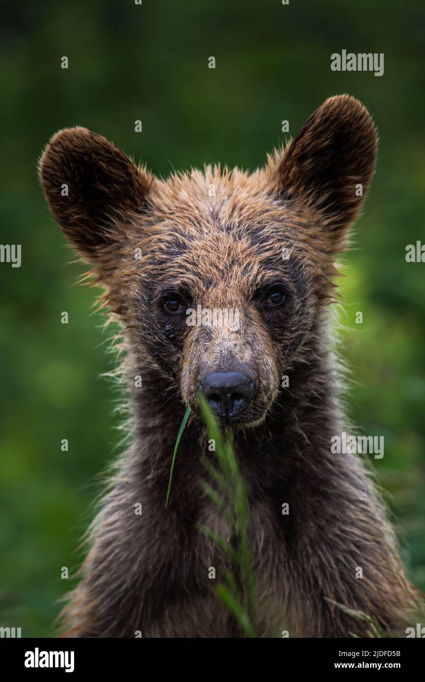
[[(256, 636), (370, 636), (370, 620), (353, 611), (384, 636), (409, 623), (420, 593), (368, 465), (331, 451), (348, 428), (333, 341), (336, 256), (376, 154), (375, 123), (349, 95), (325, 100), (252, 173), (216, 165), (160, 179), (86, 128), (51, 138), (41, 185), (121, 325), (132, 436), (91, 525), (61, 636), (244, 636), (216, 593), (220, 548), (199, 530), (231, 542), (199, 485), (214, 455), (199, 394), (231, 429), (248, 491)], [(238, 323), (189, 325), (199, 306), (236, 310)]]

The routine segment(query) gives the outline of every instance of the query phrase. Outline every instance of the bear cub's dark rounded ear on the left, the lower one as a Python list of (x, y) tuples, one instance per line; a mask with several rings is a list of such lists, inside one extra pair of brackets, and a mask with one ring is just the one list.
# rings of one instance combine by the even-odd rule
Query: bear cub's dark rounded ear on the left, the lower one
[(126, 222), (145, 209), (151, 177), (101, 135), (67, 128), (46, 146), (40, 181), (55, 220), (93, 261), (122, 241)]

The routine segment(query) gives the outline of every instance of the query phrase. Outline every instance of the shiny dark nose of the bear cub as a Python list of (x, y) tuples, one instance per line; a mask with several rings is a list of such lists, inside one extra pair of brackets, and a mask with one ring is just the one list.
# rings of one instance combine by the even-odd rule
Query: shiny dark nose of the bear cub
[(205, 376), (200, 389), (218, 417), (231, 419), (246, 410), (255, 383), (241, 372), (214, 372)]

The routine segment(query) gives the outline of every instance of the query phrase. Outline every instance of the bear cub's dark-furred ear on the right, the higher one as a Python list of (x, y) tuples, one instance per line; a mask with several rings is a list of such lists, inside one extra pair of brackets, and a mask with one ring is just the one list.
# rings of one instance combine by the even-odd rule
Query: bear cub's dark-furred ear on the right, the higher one
[(281, 196), (319, 211), (335, 250), (362, 207), (376, 153), (372, 118), (349, 95), (325, 100), (284, 151), (278, 167)]

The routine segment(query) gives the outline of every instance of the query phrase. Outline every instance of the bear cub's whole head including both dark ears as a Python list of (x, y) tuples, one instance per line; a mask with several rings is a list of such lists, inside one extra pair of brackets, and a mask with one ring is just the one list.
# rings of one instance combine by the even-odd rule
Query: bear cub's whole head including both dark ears
[(220, 421), (247, 428), (308, 356), (376, 145), (367, 110), (342, 95), (252, 174), (207, 167), (157, 179), (102, 136), (72, 128), (46, 147), (40, 177), (132, 352), (194, 413), (203, 391)]

